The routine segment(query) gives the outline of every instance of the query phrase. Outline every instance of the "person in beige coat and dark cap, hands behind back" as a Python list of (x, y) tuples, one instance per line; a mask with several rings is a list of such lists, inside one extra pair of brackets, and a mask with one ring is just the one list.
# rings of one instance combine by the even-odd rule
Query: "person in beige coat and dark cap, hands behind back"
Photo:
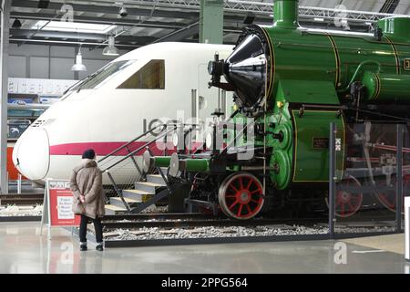
[(87, 224), (92, 220), (96, 230), (96, 249), (102, 251), (103, 235), (101, 218), (105, 214), (105, 200), (102, 189), (102, 175), (95, 161), (96, 152), (92, 149), (84, 151), (82, 162), (70, 177), (70, 189), (73, 192), (73, 212), (81, 215), (79, 227), (80, 250), (87, 250)]

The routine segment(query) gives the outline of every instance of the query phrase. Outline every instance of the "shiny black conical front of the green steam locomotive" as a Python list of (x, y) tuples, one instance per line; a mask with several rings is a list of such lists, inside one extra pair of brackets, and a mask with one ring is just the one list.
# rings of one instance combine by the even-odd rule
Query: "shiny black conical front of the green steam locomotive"
[(233, 85), (241, 104), (261, 105), (265, 96), (267, 45), (256, 33), (246, 36), (226, 60), (225, 78)]

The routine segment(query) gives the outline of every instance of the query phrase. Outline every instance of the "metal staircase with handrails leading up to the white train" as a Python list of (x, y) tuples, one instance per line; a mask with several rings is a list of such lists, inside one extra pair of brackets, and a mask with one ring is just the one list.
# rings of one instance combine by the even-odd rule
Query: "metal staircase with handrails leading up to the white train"
[[(195, 125), (190, 125), (186, 130), (186, 126), (180, 124), (157, 126), (98, 161), (103, 176), (106, 176), (111, 183), (115, 195), (108, 198), (108, 203), (105, 205), (106, 214), (140, 213), (173, 193), (165, 174), (168, 172), (167, 168), (155, 167), (152, 172), (144, 173), (141, 171), (139, 160), (144, 151), (148, 150), (152, 154), (155, 142), (163, 140), (167, 143), (170, 133), (181, 129), (185, 137), (195, 128)], [(155, 135), (152, 135), (154, 132)], [(169, 151), (166, 149), (162, 151), (162, 155), (168, 154)], [(124, 183), (124, 175), (118, 176), (116, 172), (121, 170), (124, 172), (126, 168), (129, 169), (129, 174), (128, 177), (126, 175)]]

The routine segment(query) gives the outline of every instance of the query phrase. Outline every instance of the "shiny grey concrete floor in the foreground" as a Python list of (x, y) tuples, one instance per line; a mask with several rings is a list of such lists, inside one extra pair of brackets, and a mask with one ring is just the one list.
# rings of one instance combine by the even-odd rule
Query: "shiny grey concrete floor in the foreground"
[[(404, 256), (337, 241), (110, 248), (39, 223), (0, 224), (0, 273), (408, 273)], [(392, 240), (396, 240), (393, 238)], [(371, 241), (372, 242), (372, 241)], [(345, 251), (345, 252), (344, 252)]]

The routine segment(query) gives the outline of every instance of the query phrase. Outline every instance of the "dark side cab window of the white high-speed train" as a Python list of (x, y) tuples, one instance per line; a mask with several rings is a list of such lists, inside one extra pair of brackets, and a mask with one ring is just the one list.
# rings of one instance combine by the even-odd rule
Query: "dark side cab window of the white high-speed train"
[(150, 60), (118, 86), (118, 89), (165, 89), (164, 60)]

